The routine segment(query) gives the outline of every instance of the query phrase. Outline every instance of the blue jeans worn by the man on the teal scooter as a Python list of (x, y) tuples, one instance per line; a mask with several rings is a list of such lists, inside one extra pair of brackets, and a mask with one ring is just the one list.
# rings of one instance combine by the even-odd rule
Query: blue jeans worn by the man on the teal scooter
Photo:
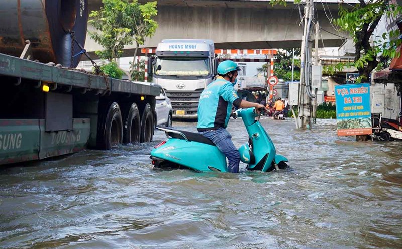
[(232, 173), (239, 173), (240, 153), (232, 142), (232, 135), (225, 128), (199, 132), (209, 138), (218, 149), (228, 158), (228, 170)]

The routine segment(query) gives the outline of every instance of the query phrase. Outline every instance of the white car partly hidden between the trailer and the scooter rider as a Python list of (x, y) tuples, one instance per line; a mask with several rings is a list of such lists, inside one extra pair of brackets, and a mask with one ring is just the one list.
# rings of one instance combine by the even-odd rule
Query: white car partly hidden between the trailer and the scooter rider
[(160, 89), (160, 95), (155, 97), (156, 105), (155, 105), (155, 120), (156, 126), (165, 125), (167, 127), (172, 126), (172, 103), (170, 99), (166, 96), (165, 90), (158, 84), (152, 84)]

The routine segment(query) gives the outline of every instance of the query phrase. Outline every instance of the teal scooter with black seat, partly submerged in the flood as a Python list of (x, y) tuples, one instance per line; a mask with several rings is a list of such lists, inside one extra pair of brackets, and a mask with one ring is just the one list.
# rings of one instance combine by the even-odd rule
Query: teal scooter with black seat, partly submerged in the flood
[[(234, 118), (241, 117), (246, 126), (249, 142), (239, 148), (240, 159), (247, 163), (248, 170), (268, 172), (284, 169), (287, 158), (276, 154), (275, 146), (259, 122), (260, 115), (255, 108), (239, 109)], [(199, 133), (157, 127), (168, 137), (151, 151), (154, 167), (188, 168), (198, 172), (228, 172), (226, 157), (214, 143)]]

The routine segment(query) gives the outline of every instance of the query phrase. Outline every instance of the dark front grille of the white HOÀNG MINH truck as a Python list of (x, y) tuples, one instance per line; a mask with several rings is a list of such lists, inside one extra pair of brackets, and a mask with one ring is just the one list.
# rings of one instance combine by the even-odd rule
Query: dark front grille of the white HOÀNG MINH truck
[(193, 115), (197, 113), (199, 96), (204, 89), (195, 91), (166, 91), (166, 95), (172, 101), (173, 113), (176, 110), (184, 110), (186, 115)]

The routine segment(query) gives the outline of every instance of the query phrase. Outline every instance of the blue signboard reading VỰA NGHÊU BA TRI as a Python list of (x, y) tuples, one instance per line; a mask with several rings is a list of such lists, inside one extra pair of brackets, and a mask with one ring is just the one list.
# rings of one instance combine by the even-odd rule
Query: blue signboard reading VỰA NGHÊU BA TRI
[(370, 84), (335, 86), (338, 136), (371, 134)]

